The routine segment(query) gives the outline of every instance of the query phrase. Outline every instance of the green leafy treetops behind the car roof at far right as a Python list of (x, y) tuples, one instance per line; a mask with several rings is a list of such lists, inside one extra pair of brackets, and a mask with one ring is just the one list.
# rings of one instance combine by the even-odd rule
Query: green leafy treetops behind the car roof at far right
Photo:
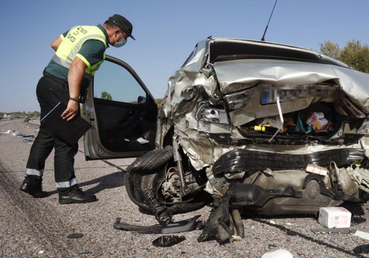
[(347, 42), (343, 49), (339, 48), (337, 43), (331, 41), (319, 43), (319, 45), (320, 52), (324, 55), (342, 61), (358, 71), (369, 73), (368, 45), (362, 46), (359, 40)]

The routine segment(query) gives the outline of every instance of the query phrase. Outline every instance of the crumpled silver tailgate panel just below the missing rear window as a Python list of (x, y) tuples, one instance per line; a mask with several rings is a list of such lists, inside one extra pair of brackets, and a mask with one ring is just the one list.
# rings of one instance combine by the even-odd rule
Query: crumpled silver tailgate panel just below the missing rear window
[(220, 90), (239, 84), (316, 84), (335, 80), (355, 104), (369, 112), (369, 74), (345, 67), (269, 59), (241, 59), (214, 64)]

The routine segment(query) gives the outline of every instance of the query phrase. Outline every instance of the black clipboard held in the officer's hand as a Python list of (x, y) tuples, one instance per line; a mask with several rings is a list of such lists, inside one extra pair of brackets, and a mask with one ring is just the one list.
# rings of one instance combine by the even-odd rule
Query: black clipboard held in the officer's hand
[(92, 125), (80, 116), (70, 121), (61, 117), (67, 108), (66, 104), (59, 102), (51, 111), (41, 119), (41, 124), (50, 128), (57, 136), (68, 142), (75, 144)]

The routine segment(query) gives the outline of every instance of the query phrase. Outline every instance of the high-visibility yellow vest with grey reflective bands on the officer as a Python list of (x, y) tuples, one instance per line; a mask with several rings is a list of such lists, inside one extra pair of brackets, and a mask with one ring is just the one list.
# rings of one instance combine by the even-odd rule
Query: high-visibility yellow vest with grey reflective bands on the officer
[(55, 55), (52, 57), (52, 60), (54, 60), (54, 62), (69, 69), (73, 59), (78, 56), (87, 65), (85, 69), (86, 73), (93, 75), (97, 71), (97, 69), (99, 69), (100, 64), (104, 60), (101, 60), (96, 64), (89, 65), (89, 62), (85, 59), (85, 57), (79, 55), (78, 51), (81, 48), (82, 44), (85, 43), (85, 41), (88, 39), (100, 40), (104, 43), (105, 48), (107, 48), (106, 37), (101, 29), (96, 26), (76, 26), (69, 30), (66, 37), (61, 35), (61, 38), (63, 40), (60, 43), (58, 50), (56, 50)]

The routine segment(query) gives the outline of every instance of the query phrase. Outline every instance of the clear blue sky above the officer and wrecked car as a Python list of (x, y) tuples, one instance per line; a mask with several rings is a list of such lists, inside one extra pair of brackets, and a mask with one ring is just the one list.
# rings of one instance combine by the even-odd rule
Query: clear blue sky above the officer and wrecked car
[[(85, 4), (86, 3), (86, 4)], [(106, 4), (103, 4), (106, 3)], [(196, 42), (262, 37), (275, 0), (4, 1), (0, 10), (0, 112), (38, 111), (37, 81), (54, 50), (50, 43), (74, 25), (96, 25), (119, 13), (136, 41), (106, 53), (132, 66), (155, 98)], [(265, 40), (319, 50), (359, 39), (369, 44), (368, 0), (278, 0)]]

